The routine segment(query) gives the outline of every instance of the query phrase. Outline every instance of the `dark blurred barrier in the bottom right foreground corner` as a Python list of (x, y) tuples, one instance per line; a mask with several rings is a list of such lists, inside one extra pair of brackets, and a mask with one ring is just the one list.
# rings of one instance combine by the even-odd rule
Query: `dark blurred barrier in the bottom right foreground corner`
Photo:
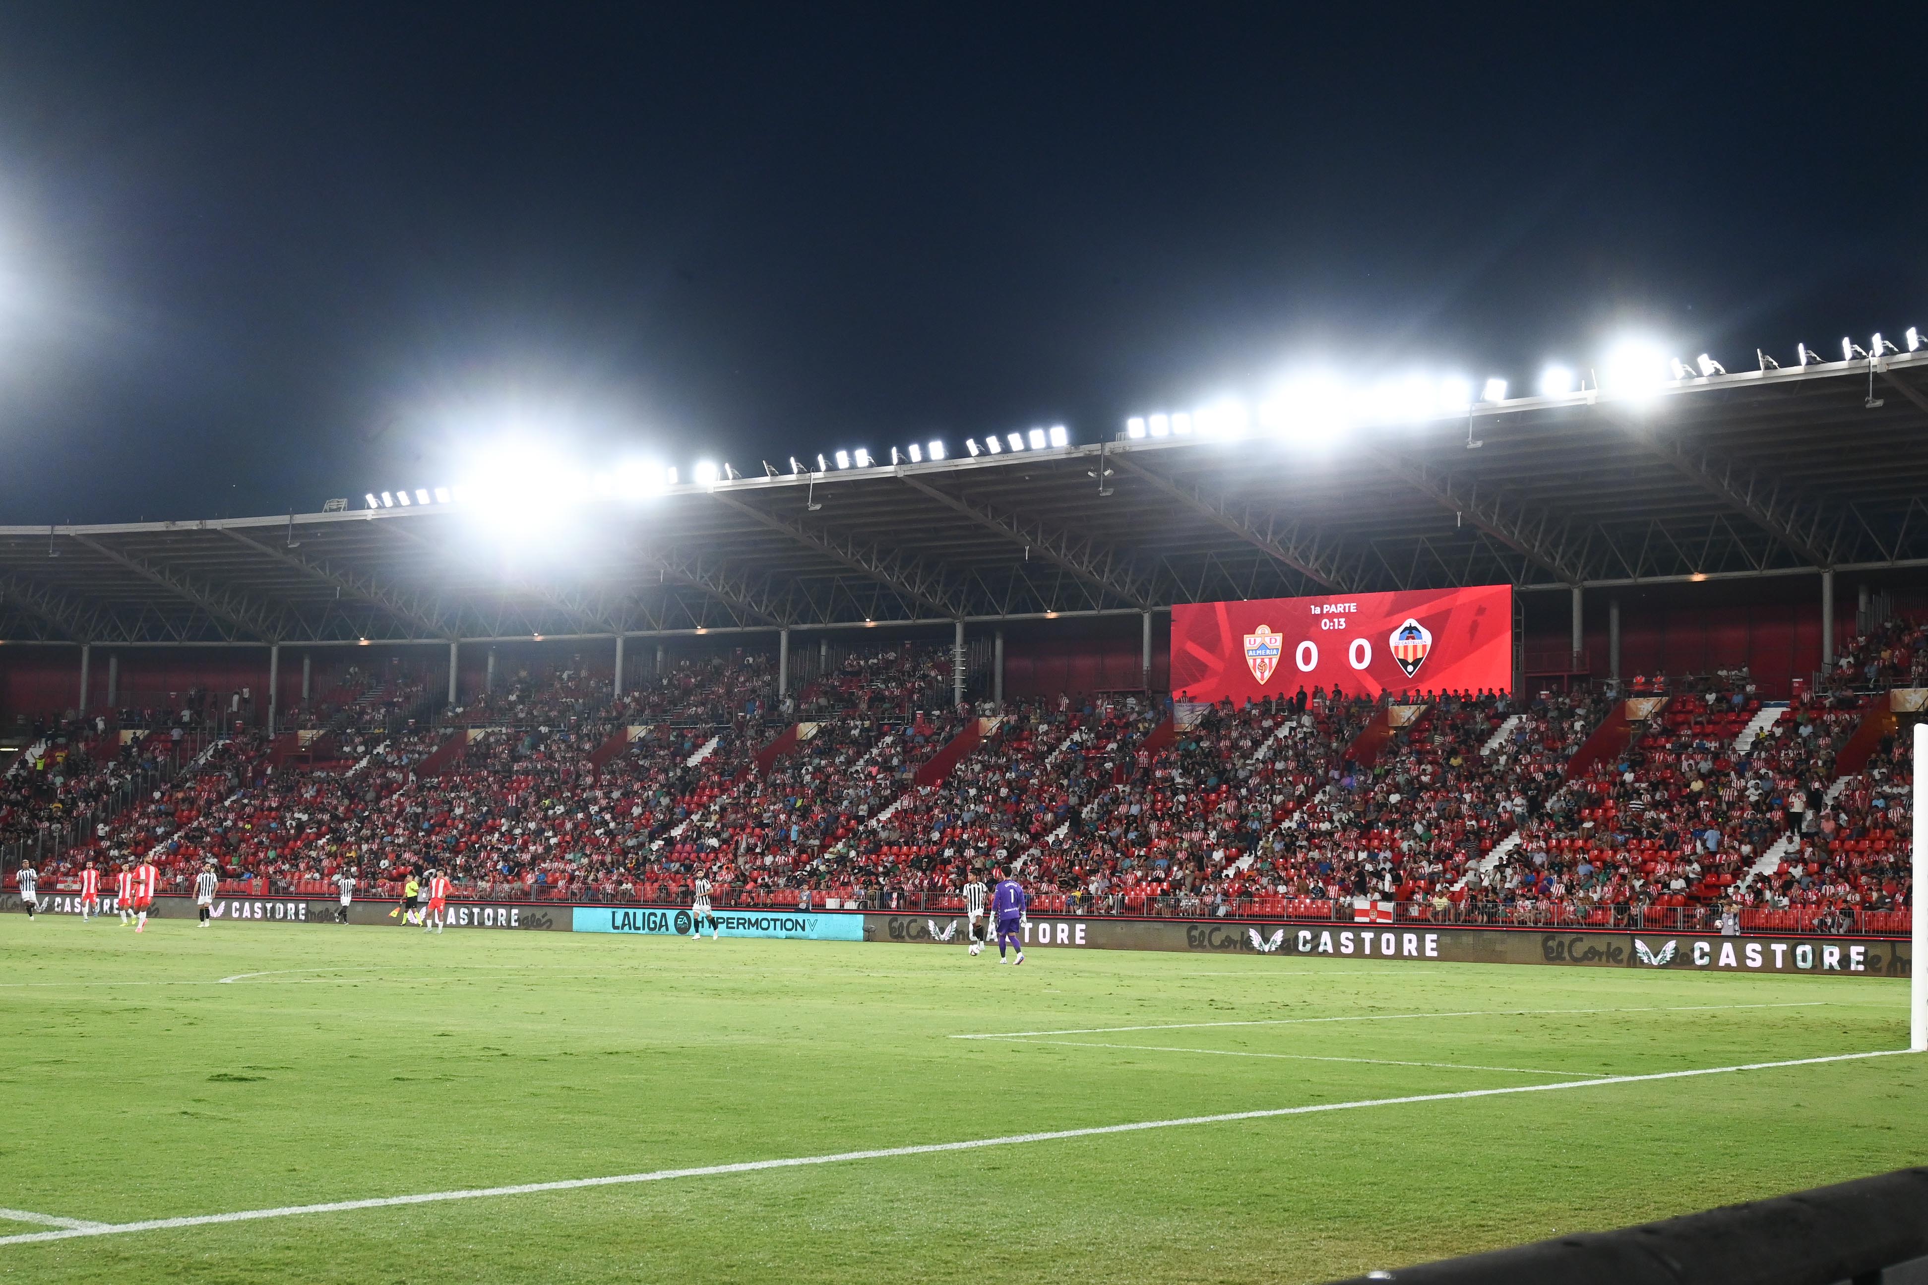
[(1922, 1285), (1928, 1169), (1375, 1272), (1344, 1285)]

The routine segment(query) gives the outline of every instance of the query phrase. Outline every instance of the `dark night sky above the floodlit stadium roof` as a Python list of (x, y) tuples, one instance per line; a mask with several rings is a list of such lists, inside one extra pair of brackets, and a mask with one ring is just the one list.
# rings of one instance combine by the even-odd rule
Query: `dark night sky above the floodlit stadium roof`
[(4, 4), (0, 522), (1928, 328), (1918, 10), (1454, 8)]

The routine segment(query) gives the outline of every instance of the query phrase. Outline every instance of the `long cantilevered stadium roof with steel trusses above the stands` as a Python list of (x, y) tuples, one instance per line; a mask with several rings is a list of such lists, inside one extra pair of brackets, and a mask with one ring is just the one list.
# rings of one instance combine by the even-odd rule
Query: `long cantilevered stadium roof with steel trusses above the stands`
[(4, 526), (0, 640), (677, 634), (1924, 566), (1924, 493), (1928, 351), (1326, 439), (1120, 437), (686, 484), (588, 505), (555, 547), (459, 505)]

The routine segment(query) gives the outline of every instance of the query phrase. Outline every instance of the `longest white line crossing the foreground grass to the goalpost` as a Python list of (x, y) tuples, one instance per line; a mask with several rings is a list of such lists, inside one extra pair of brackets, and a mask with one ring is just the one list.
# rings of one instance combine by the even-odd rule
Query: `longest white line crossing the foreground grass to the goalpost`
[(1789, 1062), (1747, 1062), (1731, 1067), (1700, 1067), (1697, 1071), (1652, 1071), (1648, 1075), (1602, 1075), (1556, 1085), (1513, 1085), (1508, 1088), (1461, 1088), (1458, 1092), (1421, 1092), (1404, 1098), (1365, 1098), (1361, 1102), (1315, 1102), (1311, 1106), (1276, 1106), (1261, 1112), (1224, 1112), (1218, 1115), (1182, 1115), (1178, 1119), (1141, 1119), (1128, 1125), (1095, 1125), (1089, 1129), (1053, 1129), (1051, 1133), (1008, 1133), (997, 1139), (964, 1142), (925, 1142), (922, 1146), (883, 1146), (862, 1152), (833, 1152), (829, 1156), (790, 1156), (785, 1160), (746, 1160), (740, 1164), (711, 1164), (692, 1169), (652, 1169), (648, 1173), (617, 1173), (611, 1177), (569, 1177), (553, 1183), (519, 1183), (515, 1187), (469, 1187), (461, 1191), (426, 1191), (413, 1196), (370, 1196), (366, 1200), (332, 1200), (326, 1204), (285, 1204), (274, 1210), (237, 1210), (233, 1214), (193, 1214), (189, 1218), (150, 1218), (137, 1223), (106, 1223), (98, 1227), (66, 1227), (60, 1231), (27, 1231), (0, 1237), (0, 1245), (29, 1245), (37, 1241), (71, 1241), (75, 1237), (125, 1235), (133, 1231), (174, 1231), (177, 1227), (214, 1227), (220, 1223), (251, 1223), (266, 1218), (297, 1218), (301, 1214), (347, 1214), (353, 1210), (386, 1210), (405, 1204), (440, 1204), (443, 1200), (480, 1200), (484, 1196), (532, 1196), (549, 1191), (582, 1191), (586, 1187), (629, 1187), (634, 1183), (663, 1183), (677, 1177), (715, 1177), (723, 1173), (760, 1173), (763, 1169), (800, 1169), (808, 1166), (850, 1164), (854, 1160), (891, 1160), (895, 1156), (933, 1156), (939, 1152), (981, 1150), (985, 1146), (1018, 1146), (1022, 1142), (1060, 1142), (1064, 1139), (1095, 1139), (1112, 1133), (1141, 1133), (1145, 1129), (1182, 1129), (1188, 1125), (1224, 1125), (1244, 1119), (1278, 1119), (1282, 1115), (1321, 1115), (1325, 1112), (1353, 1112), (1369, 1106), (1411, 1106), (1419, 1102), (1456, 1102), (1461, 1098), (1500, 1098), (1517, 1092), (1552, 1092), (1558, 1088), (1598, 1088), (1602, 1085), (1639, 1085), (1660, 1079), (1689, 1079), (1695, 1075), (1731, 1075), (1735, 1071), (1772, 1071), (1780, 1067), (1808, 1067), (1826, 1062), (1861, 1062), (1864, 1058), (1893, 1058), (1905, 1048), (1884, 1048), (1868, 1054), (1830, 1054), (1826, 1058), (1793, 1058)]

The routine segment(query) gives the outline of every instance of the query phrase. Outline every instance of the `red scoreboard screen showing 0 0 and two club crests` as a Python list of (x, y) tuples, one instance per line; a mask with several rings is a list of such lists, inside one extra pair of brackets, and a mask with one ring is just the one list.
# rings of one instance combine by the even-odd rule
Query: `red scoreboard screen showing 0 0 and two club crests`
[(1261, 597), (1172, 607), (1172, 695), (1292, 695), (1299, 688), (1510, 692), (1513, 588)]

